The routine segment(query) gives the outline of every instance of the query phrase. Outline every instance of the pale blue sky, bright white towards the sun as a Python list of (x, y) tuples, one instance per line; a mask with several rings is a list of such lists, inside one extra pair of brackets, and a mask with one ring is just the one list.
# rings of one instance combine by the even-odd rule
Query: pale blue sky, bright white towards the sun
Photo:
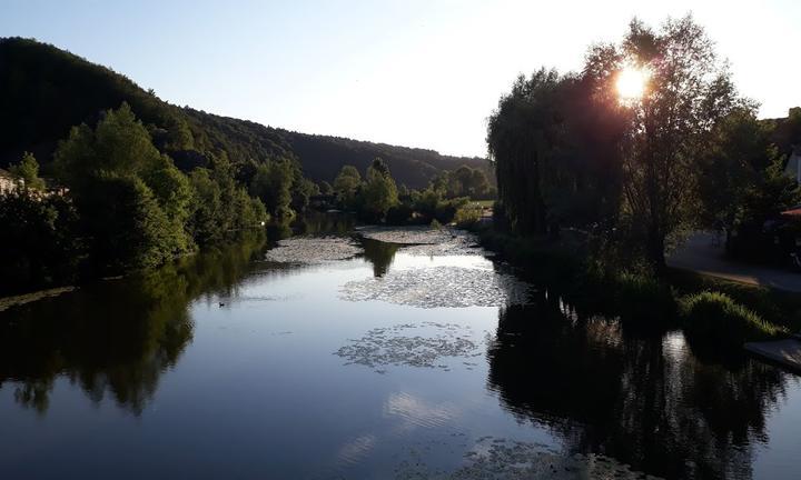
[(517, 74), (580, 70), (633, 17), (690, 12), (761, 117), (801, 106), (799, 0), (0, 0), (0, 37), (52, 43), (179, 106), (483, 157)]

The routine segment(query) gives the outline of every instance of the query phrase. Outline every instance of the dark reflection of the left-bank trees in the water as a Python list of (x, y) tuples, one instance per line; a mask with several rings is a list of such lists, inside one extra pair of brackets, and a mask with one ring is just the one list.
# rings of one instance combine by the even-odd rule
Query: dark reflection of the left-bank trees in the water
[(0, 386), (18, 382), (17, 401), (43, 413), (55, 380), (65, 376), (93, 401), (110, 394), (139, 414), (192, 338), (189, 302), (230, 294), (264, 243), (254, 236), (236, 248), (3, 312)]

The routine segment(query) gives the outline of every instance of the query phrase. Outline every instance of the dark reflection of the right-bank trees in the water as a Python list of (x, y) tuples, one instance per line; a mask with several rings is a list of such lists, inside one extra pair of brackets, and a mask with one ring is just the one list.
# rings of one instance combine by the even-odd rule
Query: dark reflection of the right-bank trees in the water
[(785, 377), (755, 361), (706, 363), (681, 333), (643, 338), (546, 301), (501, 312), (490, 388), (570, 448), (666, 478), (751, 478), (753, 443)]

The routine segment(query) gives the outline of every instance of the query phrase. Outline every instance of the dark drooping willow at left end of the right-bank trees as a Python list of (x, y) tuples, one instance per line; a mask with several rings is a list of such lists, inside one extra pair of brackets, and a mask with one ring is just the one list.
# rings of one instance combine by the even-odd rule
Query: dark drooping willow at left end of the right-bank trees
[(545, 233), (542, 168), (561, 119), (556, 108), (560, 76), (541, 69), (518, 77), (490, 117), (487, 147), (495, 163), (498, 198), (512, 226), (522, 233)]

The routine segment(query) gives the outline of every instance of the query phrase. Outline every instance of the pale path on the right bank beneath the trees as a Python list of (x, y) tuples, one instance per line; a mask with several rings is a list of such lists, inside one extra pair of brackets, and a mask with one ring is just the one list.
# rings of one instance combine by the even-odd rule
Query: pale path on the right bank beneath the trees
[(709, 232), (693, 233), (668, 258), (668, 266), (779, 290), (801, 292), (801, 273), (740, 263), (724, 257), (722, 242)]

